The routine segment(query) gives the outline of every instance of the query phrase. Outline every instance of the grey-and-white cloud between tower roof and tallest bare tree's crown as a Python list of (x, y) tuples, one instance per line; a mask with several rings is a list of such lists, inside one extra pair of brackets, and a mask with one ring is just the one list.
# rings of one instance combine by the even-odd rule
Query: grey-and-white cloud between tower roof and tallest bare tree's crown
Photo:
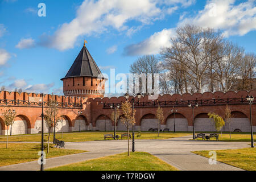
[(170, 38), (175, 35), (174, 29), (164, 29), (160, 32), (155, 32), (150, 38), (143, 40), (140, 43), (132, 44), (125, 48), (125, 55), (151, 55), (159, 53), (163, 47), (170, 47)]

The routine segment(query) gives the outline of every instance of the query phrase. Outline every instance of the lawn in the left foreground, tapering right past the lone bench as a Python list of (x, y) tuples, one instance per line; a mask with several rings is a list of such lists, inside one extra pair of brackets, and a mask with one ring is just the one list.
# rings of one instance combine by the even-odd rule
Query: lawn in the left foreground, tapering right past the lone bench
[[(6, 148), (6, 143), (0, 143), (0, 166), (37, 160), (40, 157), (38, 155), (39, 151), (41, 151), (41, 145), (37, 143), (9, 143), (8, 148)], [(50, 144), (49, 154), (46, 154), (46, 158), (81, 152), (86, 151), (55, 148), (53, 144)]]

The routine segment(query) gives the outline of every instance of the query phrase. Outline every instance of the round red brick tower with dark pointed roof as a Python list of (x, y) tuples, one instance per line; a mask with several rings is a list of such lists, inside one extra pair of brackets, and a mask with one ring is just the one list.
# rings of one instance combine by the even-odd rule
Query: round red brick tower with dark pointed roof
[(105, 78), (85, 47), (85, 43), (67, 75), (60, 80), (63, 81), (65, 96), (104, 97)]

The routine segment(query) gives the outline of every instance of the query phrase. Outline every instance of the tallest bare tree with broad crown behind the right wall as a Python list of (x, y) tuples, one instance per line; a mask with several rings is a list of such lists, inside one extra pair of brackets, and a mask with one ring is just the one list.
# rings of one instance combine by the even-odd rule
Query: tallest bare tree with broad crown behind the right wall
[[(169, 62), (170, 69), (173, 65), (185, 78), (189, 76), (196, 92), (202, 92), (205, 75), (209, 70), (209, 65), (213, 62), (213, 53), (216, 52), (217, 44), (222, 39), (220, 32), (215, 32), (213, 28), (201, 28), (191, 25), (177, 28), (176, 37), (171, 39), (172, 46), (164, 48), (162, 57)], [(176, 76), (176, 78), (181, 76)], [(186, 88), (188, 92), (188, 88)]]

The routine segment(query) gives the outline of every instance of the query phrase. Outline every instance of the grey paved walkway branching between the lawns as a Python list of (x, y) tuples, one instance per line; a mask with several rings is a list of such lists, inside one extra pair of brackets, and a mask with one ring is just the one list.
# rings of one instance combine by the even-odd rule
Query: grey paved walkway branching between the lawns
[[(217, 162), (216, 165), (210, 165), (208, 158), (192, 154), (191, 151), (199, 150), (224, 150), (249, 147), (247, 142), (215, 142), (215, 141), (194, 141), (189, 140), (191, 136), (164, 139), (164, 140), (135, 140), (136, 151), (149, 152), (152, 155), (164, 160), (168, 164), (183, 171), (233, 171), (242, 170)], [(130, 145), (131, 146), (131, 145)], [(82, 154), (73, 154), (60, 156), (46, 160), (46, 168), (63, 166), (66, 164), (82, 162), (89, 159), (96, 159), (102, 156), (119, 154), (127, 151), (127, 140), (106, 140), (92, 142), (67, 142), (65, 148), (87, 150)], [(218, 156), (217, 156), (218, 158)], [(14, 164), (0, 167), (1, 170), (39, 170), (37, 161)]]

